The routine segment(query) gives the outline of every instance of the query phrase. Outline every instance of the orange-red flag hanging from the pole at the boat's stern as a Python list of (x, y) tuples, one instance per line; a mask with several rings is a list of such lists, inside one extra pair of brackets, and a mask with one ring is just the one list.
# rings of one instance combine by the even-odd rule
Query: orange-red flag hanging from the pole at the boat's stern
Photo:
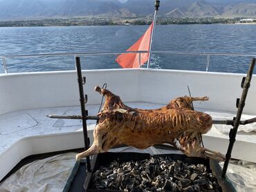
[[(143, 36), (136, 41), (127, 51), (138, 51), (138, 50), (149, 50), (150, 39), (152, 35), (153, 22), (144, 33)], [(139, 64), (139, 53), (123, 53), (116, 58), (116, 62), (122, 68), (139, 68), (140, 65), (145, 64), (149, 58), (149, 53), (140, 53), (140, 64)]]

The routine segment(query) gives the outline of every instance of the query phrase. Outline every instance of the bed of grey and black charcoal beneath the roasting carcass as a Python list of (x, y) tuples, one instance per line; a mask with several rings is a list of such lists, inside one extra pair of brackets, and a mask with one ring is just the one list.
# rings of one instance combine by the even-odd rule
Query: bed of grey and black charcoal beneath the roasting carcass
[(93, 174), (93, 189), (110, 191), (221, 191), (217, 179), (203, 164), (186, 164), (167, 157), (100, 167)]

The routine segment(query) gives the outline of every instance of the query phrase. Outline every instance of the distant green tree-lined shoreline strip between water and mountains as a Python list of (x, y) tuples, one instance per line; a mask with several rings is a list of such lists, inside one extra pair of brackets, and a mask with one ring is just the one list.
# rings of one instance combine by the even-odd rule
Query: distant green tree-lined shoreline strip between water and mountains
[[(34, 19), (17, 21), (0, 21), (0, 27), (41, 27), (41, 26), (145, 26), (152, 23), (152, 18), (104, 18), (104, 17), (75, 17), (62, 19)], [(236, 24), (253, 25), (253, 23), (239, 23), (239, 19), (225, 18), (169, 18), (158, 17), (158, 25), (194, 25), (194, 24)]]

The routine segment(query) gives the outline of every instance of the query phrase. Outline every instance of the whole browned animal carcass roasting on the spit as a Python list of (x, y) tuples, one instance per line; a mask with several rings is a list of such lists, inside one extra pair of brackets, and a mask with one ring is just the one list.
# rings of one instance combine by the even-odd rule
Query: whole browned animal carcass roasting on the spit
[(212, 157), (223, 160), (220, 153), (201, 146), (201, 134), (212, 127), (212, 117), (192, 110), (193, 101), (207, 101), (208, 97), (179, 97), (167, 106), (154, 110), (130, 108), (109, 90), (95, 87), (106, 99), (93, 133), (91, 147), (76, 155), (80, 160), (89, 155), (109, 151), (113, 146), (127, 144), (148, 148), (154, 144), (172, 144), (189, 157)]

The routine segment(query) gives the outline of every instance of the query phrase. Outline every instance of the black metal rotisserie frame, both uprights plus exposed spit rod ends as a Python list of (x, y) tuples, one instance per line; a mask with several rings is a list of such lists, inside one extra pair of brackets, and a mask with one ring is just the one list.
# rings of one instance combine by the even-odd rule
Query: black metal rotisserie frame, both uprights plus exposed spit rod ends
[[(82, 124), (83, 124), (83, 132), (84, 132), (84, 144), (85, 144), (85, 149), (89, 148), (89, 138), (87, 135), (87, 125), (86, 125), (86, 120), (87, 119), (93, 119), (93, 120), (98, 120), (99, 117), (98, 116), (88, 116), (88, 111), (85, 110), (85, 106), (84, 104), (85, 99), (84, 99), (84, 90), (83, 90), (83, 84), (85, 84), (85, 77), (82, 77), (82, 71), (81, 71), (81, 65), (80, 65), (80, 57), (75, 57), (75, 64), (76, 64), (76, 69), (77, 69), (77, 81), (78, 81), (78, 85), (79, 85), (79, 90), (80, 90), (80, 105), (81, 105), (81, 112), (82, 115), (46, 115), (47, 117), (50, 118), (57, 118), (57, 119), (82, 119)], [(251, 124), (253, 122), (256, 122), (256, 117), (252, 118), (252, 119), (246, 119), (241, 121), (241, 114), (243, 112), (244, 106), (245, 106), (245, 101), (246, 101), (246, 96), (248, 93), (248, 89), (250, 87), (250, 80), (253, 76), (253, 69), (255, 67), (255, 58), (252, 59), (252, 61), (250, 62), (250, 66), (249, 66), (249, 70), (247, 73), (246, 77), (243, 77), (242, 81), (241, 81), (241, 88), (243, 88), (243, 92), (241, 94), (241, 99), (237, 99), (237, 116), (230, 120), (230, 119), (226, 119), (226, 120), (217, 120), (217, 119), (213, 119), (212, 123), (213, 124), (226, 124), (226, 125), (231, 125), (233, 126), (232, 129), (230, 129), (230, 144), (228, 146), (228, 151), (226, 153), (226, 161), (224, 163), (223, 169), (222, 169), (222, 174), (221, 177), (225, 177), (226, 175), (226, 171), (228, 169), (228, 163), (231, 157), (231, 152), (232, 152), (232, 148), (233, 145), (235, 143), (235, 137), (237, 135), (237, 129), (239, 127), (239, 125), (245, 125), (245, 124)], [(87, 95), (86, 95), (87, 98)], [(165, 146), (165, 145), (163, 145)], [(91, 164), (90, 164), (90, 160), (89, 157), (86, 157), (86, 161), (87, 161), (87, 170), (91, 171)]]

